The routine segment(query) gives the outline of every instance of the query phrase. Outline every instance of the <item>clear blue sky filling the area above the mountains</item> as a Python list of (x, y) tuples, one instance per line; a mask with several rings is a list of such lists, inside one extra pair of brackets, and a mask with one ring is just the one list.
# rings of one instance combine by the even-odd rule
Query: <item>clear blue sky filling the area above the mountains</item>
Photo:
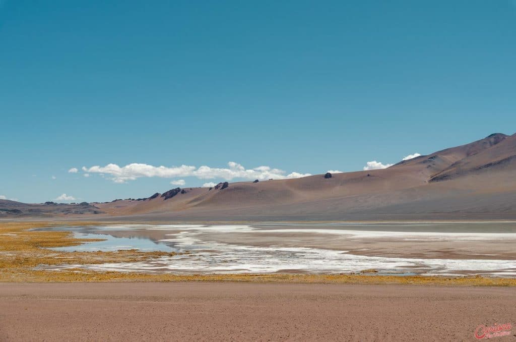
[(514, 56), (505, 0), (3, 0), (0, 196), (143, 197), (512, 134)]

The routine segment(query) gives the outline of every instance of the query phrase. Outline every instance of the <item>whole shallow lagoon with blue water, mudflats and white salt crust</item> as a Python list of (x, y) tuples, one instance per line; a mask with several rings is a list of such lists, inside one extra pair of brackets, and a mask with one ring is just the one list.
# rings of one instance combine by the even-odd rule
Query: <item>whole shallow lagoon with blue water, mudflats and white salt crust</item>
[[(46, 228), (47, 229), (47, 228)], [(361, 255), (376, 246), (440, 246), (455, 243), (493, 246), (516, 241), (513, 223), (446, 224), (251, 224), (251, 225), (106, 225), (54, 227), (80, 238), (104, 238), (66, 251), (190, 252), (148, 262), (70, 265), (96, 270), (188, 273), (352, 273), (490, 274), (516, 276), (516, 261), (479, 253), (467, 258)], [(488, 231), (488, 232), (486, 232)], [(513, 244), (512, 244), (513, 245)], [(366, 248), (363, 248), (363, 247)], [(373, 247), (371, 247), (373, 246)], [(348, 248), (343, 248), (348, 247)], [(352, 248), (350, 248), (352, 247)], [(357, 248), (355, 248), (357, 247)], [(361, 248), (358, 248), (361, 247)], [(389, 247), (390, 248), (390, 247)], [(389, 250), (389, 248), (384, 248)], [(398, 247), (396, 247), (398, 248)], [(462, 247), (461, 247), (462, 248)], [(450, 248), (444, 248), (449, 250)], [(381, 251), (379, 248), (378, 251)], [(482, 255), (485, 255), (485, 259)], [(62, 269), (66, 267), (53, 267)]]

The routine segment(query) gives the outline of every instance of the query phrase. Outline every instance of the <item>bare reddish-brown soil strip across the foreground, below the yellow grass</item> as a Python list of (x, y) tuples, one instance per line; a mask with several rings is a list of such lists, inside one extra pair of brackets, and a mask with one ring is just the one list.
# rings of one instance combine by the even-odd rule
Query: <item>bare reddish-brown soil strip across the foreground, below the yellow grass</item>
[(0, 340), (474, 340), (515, 304), (490, 287), (0, 284)]

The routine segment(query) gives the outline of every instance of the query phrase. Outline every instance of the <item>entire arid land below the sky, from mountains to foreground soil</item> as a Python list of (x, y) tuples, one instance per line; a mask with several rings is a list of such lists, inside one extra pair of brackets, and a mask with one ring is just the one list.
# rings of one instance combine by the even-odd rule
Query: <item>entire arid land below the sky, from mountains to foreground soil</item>
[(515, 176), (492, 134), (331, 177), (0, 200), (0, 340), (472, 340), (516, 322)]

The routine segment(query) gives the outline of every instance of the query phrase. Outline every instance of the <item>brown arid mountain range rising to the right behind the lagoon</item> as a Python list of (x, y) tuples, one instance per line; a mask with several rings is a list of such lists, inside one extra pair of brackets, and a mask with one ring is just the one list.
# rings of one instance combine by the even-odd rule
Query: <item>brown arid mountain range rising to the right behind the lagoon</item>
[(516, 134), (495, 133), (389, 168), (331, 176), (176, 188), (109, 203), (0, 200), (0, 214), (122, 221), (516, 219)]

